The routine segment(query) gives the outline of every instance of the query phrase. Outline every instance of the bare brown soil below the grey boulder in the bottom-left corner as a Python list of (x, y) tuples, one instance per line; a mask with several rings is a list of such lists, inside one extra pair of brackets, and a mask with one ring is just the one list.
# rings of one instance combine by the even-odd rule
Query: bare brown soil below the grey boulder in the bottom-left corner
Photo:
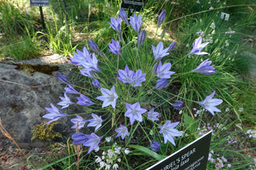
[[(66, 152), (66, 146), (54, 143), (54, 148), (27, 147), (19, 149), (12, 140), (1, 134), (0, 136), (0, 170), (30, 170), (42, 168), (46, 162), (51, 162)], [(40, 160), (42, 159), (42, 160)], [(31, 166), (33, 164), (33, 167)], [(38, 166), (37, 166), (38, 165)]]

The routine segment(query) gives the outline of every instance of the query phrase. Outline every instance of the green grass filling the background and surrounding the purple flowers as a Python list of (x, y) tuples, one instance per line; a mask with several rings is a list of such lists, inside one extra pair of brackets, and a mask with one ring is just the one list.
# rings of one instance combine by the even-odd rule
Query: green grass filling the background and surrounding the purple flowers
[[(157, 78), (152, 74), (154, 55), (151, 45), (156, 46), (159, 42), (159, 40), (154, 39), (154, 33), (146, 33), (147, 36), (152, 37), (153, 35), (153, 38), (146, 38), (143, 45), (137, 50), (137, 34), (129, 27), (126, 34), (123, 34), (126, 36), (126, 42), (120, 42), (122, 55), (117, 61), (118, 56), (110, 53), (107, 43), (111, 41), (111, 38), (118, 40), (118, 34), (110, 28), (108, 22), (110, 22), (110, 17), (116, 18), (120, 2), (86, 2), (83, 3), (81, 0), (66, 1), (69, 31), (67, 25), (63, 24), (65, 14), (61, 1), (54, 2), (48, 9), (48, 14), (51, 17), (46, 21), (46, 33), (38, 32), (33, 27), (34, 25), (31, 26), (32, 19), (30, 16), (25, 17), (25, 19), (22, 18), (23, 14), (16, 8), (13, 9), (15, 14), (9, 14), (7, 10), (4, 10), (5, 13), (2, 14), (6, 16), (4, 19), (10, 21), (16, 19), (17, 22), (6, 22), (5, 25), (0, 25), (6, 35), (24, 34), (21, 37), (17, 35), (20, 41), (15, 42), (15, 39), (11, 39), (11, 43), (5, 45), (6, 53), (16, 60), (37, 56), (38, 53), (35, 52), (42, 48), (41, 44), (45, 44), (48, 49), (52, 49), (55, 53), (72, 56), (75, 49), (82, 50), (84, 45), (89, 47), (87, 41), (90, 39), (93, 39), (98, 44), (99, 49), (106, 54), (105, 56), (97, 56), (99, 67), (102, 69), (102, 73), (98, 73), (97, 77), (103, 88), (110, 89), (112, 85), (115, 85), (116, 93), (118, 93), (116, 109), (111, 107), (102, 109), (102, 103), (94, 99), (102, 93), (100, 89), (91, 85), (92, 80), (90, 78), (74, 75), (72, 80), (74, 84), (79, 81), (79, 84), (82, 84), (82, 93), (97, 103), (90, 108), (85, 108), (84, 114), (98, 113), (106, 120), (96, 132), (99, 136), (104, 136), (100, 144), (100, 151), (86, 154), (88, 148), (84, 147), (82, 156), (80, 156), (82, 158), (79, 163), (80, 168), (86, 169), (86, 166), (98, 168), (99, 165), (94, 164), (94, 156), (101, 156), (103, 151), (107, 152), (108, 149), (114, 148), (113, 142), (105, 141), (106, 136), (112, 136), (121, 147), (134, 149), (128, 156), (122, 150), (119, 155), (122, 162), (118, 163), (121, 169), (143, 169), (198, 138), (199, 132), (202, 132), (203, 128), (206, 131), (214, 130), (210, 150), (214, 151), (212, 158), (216, 162), (211, 163), (209, 161), (207, 169), (214, 169), (218, 162), (217, 158), (221, 159), (222, 156), (228, 160), (224, 163), (225, 168), (231, 164), (232, 169), (247, 169), (250, 164), (253, 164), (255, 152), (252, 151), (255, 149), (253, 145), (255, 139), (249, 138), (246, 131), (254, 128), (256, 122), (255, 81), (248, 77), (252, 60), (242, 53), (245, 50), (255, 53), (255, 50), (250, 47), (251, 45), (254, 46), (254, 42), (249, 41), (249, 39), (255, 39), (255, 6), (245, 6), (245, 4), (253, 4), (253, 1), (228, 1), (226, 5), (216, 1), (211, 1), (211, 4), (185, 1), (181, 2), (180, 5), (173, 5), (164, 0), (159, 1), (159, 3), (147, 2), (144, 12), (140, 13), (143, 18), (143, 29), (146, 29), (147, 23), (150, 21), (154, 21), (156, 24), (156, 14), (159, 14), (162, 9), (166, 9), (166, 20), (161, 27), (166, 31), (171, 30), (172, 38), (178, 42), (170, 55), (162, 59), (162, 63), (170, 62), (172, 64), (170, 70), (176, 73), (171, 76), (169, 86), (161, 90), (154, 89)], [(6, 6), (11, 5), (6, 3)], [(209, 10), (211, 6), (214, 7), (214, 10)], [(228, 22), (220, 19), (222, 11), (231, 14)], [(11, 16), (16, 16), (16, 18), (11, 18)], [(0, 18), (0, 22), (4, 23), (4, 19)], [(210, 27), (213, 22), (215, 28)], [(124, 27), (125, 25), (122, 23), (122, 29)], [(156, 25), (151, 27), (153, 30), (157, 30)], [(19, 30), (21, 28), (25, 29)], [(230, 30), (234, 30), (235, 33), (226, 34)], [(192, 49), (194, 39), (199, 37), (199, 31), (204, 32), (203, 38), (210, 40), (210, 44), (202, 49), (202, 51), (210, 54), (206, 56), (187, 55)], [(40, 36), (38, 36), (39, 34)], [(77, 34), (86, 34), (86, 36), (82, 37), (81, 42), (74, 42)], [(45, 36), (48, 42), (43, 42), (40, 39), (42, 36)], [(165, 47), (171, 42), (169, 39), (166, 41), (161, 39), (160, 41)], [(216, 73), (206, 76), (191, 72), (207, 58), (215, 65)], [(146, 81), (142, 83), (142, 87), (134, 88), (117, 81), (118, 69), (124, 69), (125, 65), (128, 65), (130, 70), (134, 72), (142, 69), (142, 73), (146, 73)], [(78, 88), (79, 86), (75, 87)], [(222, 105), (218, 106), (222, 113), (216, 113), (213, 117), (205, 111), (201, 116), (195, 117), (196, 111), (202, 109), (196, 104), (196, 101), (203, 101), (214, 90), (216, 91), (214, 98), (223, 100)], [(171, 105), (177, 100), (185, 101), (181, 112), (173, 109)], [(140, 102), (142, 108), (147, 110), (154, 107), (162, 114), (162, 117), (158, 123), (144, 119), (141, 123), (135, 121), (134, 125), (130, 126), (129, 119), (123, 117), (126, 112), (125, 102), (130, 104)], [(243, 108), (242, 112), (238, 111), (240, 108)], [(178, 130), (181, 130), (184, 136), (175, 139), (177, 147), (174, 147), (170, 142), (163, 144), (162, 135), (158, 133), (158, 124), (163, 125), (166, 120), (181, 121)], [(111, 125), (112, 122), (113, 125)], [(114, 128), (118, 128), (119, 123), (129, 125), (130, 136), (126, 137), (125, 142), (115, 138)], [(218, 125), (222, 125), (222, 127), (220, 128)], [(152, 133), (154, 135), (150, 135)], [(135, 139), (132, 138), (133, 134)], [(236, 139), (237, 142), (228, 143), (229, 136)], [(148, 149), (150, 140), (157, 140), (162, 143), (158, 154), (153, 154)], [(70, 144), (67, 146), (68, 149), (62, 151), (64, 155), (55, 156), (50, 163), (34, 164), (34, 166), (41, 169), (77, 169), (74, 146)], [(134, 158), (139, 161), (134, 161)]]

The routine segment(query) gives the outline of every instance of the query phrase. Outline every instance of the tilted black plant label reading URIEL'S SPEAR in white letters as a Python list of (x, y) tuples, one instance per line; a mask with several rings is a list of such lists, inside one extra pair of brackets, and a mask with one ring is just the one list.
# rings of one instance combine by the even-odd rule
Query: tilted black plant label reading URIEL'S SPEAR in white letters
[(211, 132), (181, 148), (146, 170), (202, 170), (206, 169)]

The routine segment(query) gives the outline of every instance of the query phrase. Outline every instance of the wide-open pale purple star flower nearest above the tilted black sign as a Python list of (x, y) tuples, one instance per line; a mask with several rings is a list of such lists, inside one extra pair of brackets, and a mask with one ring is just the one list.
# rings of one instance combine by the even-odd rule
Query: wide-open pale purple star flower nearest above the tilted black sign
[(170, 123), (170, 121), (166, 121), (164, 125), (160, 126), (161, 129), (159, 133), (163, 135), (165, 144), (167, 143), (167, 140), (169, 140), (170, 143), (174, 144), (175, 146), (174, 136), (182, 136), (182, 133), (179, 132), (177, 129), (175, 129), (175, 127), (178, 124), (179, 124), (179, 121), (174, 123)]

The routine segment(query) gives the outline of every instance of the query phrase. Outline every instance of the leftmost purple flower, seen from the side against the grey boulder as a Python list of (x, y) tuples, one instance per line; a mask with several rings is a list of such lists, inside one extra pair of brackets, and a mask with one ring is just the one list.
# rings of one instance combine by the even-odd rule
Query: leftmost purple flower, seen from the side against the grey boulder
[(59, 118), (66, 117), (66, 113), (62, 113), (60, 109), (56, 108), (52, 103), (50, 104), (51, 108), (46, 108), (49, 112), (48, 114), (42, 116), (42, 118), (51, 119), (47, 122), (47, 125), (53, 121), (57, 121)]

